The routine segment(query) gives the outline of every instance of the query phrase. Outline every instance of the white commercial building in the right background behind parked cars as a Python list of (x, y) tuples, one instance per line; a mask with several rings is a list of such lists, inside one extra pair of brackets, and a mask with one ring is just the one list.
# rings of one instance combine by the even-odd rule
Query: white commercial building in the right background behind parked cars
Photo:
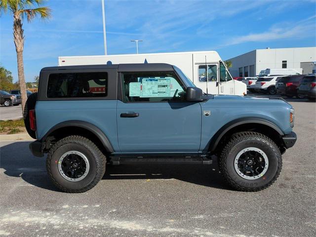
[(253, 77), (267, 68), (302, 68), (303, 74), (310, 74), (316, 47), (255, 49), (229, 60), (233, 77)]

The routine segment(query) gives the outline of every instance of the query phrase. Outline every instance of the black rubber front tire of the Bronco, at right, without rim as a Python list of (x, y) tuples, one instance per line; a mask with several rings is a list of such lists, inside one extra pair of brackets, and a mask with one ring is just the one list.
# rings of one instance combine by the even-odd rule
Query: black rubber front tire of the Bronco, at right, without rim
[[(266, 153), (269, 166), (266, 173), (255, 180), (240, 177), (234, 167), (237, 153), (247, 147), (255, 147)], [(219, 158), (219, 169), (227, 183), (234, 189), (244, 192), (256, 192), (271, 186), (279, 176), (282, 168), (282, 157), (275, 142), (257, 132), (238, 132), (222, 150)]]

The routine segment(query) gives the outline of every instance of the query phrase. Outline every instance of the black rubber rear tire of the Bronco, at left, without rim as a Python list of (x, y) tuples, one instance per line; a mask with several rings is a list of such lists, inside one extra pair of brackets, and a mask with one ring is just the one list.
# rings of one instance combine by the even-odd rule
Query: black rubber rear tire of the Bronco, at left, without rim
[[(78, 182), (66, 180), (58, 170), (60, 157), (68, 151), (78, 151), (89, 160), (89, 172)], [(83, 193), (92, 189), (105, 173), (106, 157), (98, 147), (85, 137), (69, 136), (56, 142), (48, 152), (46, 169), (53, 184), (66, 193)]]

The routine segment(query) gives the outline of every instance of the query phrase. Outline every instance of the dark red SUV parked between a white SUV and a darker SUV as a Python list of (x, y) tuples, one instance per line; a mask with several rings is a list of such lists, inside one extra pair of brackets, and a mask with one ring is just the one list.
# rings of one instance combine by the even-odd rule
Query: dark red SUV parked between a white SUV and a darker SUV
[(280, 78), (276, 82), (276, 93), (285, 95), (289, 98), (296, 96), (297, 98), (304, 98), (304, 96), (298, 94), (298, 87), (304, 75), (293, 75)]

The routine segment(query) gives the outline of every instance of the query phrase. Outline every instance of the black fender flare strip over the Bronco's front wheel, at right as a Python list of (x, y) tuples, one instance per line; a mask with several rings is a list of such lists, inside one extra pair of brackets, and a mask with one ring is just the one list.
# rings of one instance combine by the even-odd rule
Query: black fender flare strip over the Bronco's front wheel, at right
[(271, 127), (272, 129), (274, 129), (280, 136), (284, 136), (284, 133), (282, 132), (282, 130), (275, 123), (267, 119), (256, 118), (256, 117), (237, 118), (226, 123), (215, 133), (215, 135), (211, 138), (211, 140), (208, 143), (207, 147), (209, 148), (209, 151), (210, 152), (215, 151), (218, 143), (229, 130), (231, 130), (232, 128), (236, 126), (247, 124), (247, 123), (258, 123), (258, 124), (267, 125)]

